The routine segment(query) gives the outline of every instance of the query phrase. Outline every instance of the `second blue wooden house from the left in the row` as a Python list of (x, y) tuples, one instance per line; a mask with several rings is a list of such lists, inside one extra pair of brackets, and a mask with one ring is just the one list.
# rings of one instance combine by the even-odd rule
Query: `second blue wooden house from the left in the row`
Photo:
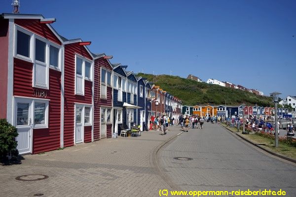
[(126, 107), (126, 123), (131, 128), (137, 123), (137, 78), (133, 71), (127, 72), (127, 103), (133, 106)]

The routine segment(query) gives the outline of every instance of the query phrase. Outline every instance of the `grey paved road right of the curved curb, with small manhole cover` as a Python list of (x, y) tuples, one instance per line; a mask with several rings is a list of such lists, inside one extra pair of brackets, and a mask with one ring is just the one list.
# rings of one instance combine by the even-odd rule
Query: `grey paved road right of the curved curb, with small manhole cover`
[(158, 159), (184, 191), (282, 189), (296, 197), (295, 164), (270, 157), (216, 124), (183, 133), (159, 151)]

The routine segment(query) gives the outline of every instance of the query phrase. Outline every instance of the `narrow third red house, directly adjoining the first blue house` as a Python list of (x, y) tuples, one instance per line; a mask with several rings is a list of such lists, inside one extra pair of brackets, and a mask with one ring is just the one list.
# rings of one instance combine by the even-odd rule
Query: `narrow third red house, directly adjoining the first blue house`
[(94, 140), (112, 135), (112, 56), (95, 55), (94, 64)]

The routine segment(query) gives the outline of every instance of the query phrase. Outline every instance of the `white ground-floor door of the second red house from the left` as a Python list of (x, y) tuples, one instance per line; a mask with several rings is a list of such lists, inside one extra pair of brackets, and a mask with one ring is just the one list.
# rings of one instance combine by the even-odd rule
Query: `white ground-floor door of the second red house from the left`
[(75, 105), (75, 144), (83, 142), (83, 106)]

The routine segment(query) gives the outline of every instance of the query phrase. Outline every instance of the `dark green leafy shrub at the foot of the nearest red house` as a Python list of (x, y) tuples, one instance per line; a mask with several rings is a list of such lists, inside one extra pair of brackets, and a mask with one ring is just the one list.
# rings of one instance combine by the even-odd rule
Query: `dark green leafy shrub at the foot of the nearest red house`
[(13, 156), (18, 155), (17, 141), (15, 141), (17, 136), (17, 129), (6, 119), (0, 119), (0, 159), (5, 159), (7, 153), (11, 153)]

